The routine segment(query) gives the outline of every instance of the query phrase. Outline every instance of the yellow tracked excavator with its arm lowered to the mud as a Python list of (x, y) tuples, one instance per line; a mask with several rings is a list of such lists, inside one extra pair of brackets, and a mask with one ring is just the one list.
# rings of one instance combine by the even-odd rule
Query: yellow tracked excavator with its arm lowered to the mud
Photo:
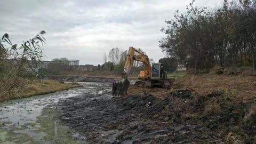
[(134, 47), (130, 47), (125, 58), (124, 70), (121, 73), (122, 79), (113, 82), (113, 95), (122, 95), (123, 93), (127, 93), (127, 89), (130, 85), (128, 77), (131, 73), (134, 61), (140, 61), (143, 63), (143, 70), (140, 71), (135, 85), (140, 87), (162, 87), (165, 89), (171, 87), (174, 79), (167, 78), (167, 73), (162, 63), (152, 63), (151, 66), (146, 53), (140, 52), (134, 49)]

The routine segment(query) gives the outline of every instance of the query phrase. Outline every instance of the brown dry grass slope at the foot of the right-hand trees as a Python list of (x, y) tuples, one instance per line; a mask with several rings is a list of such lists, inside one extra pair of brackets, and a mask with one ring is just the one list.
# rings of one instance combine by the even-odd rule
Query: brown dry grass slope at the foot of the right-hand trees
[(256, 98), (256, 77), (242, 75), (187, 75), (174, 82), (176, 88), (188, 88), (194, 94), (207, 95), (220, 91), (225, 99), (237, 102), (253, 102)]

